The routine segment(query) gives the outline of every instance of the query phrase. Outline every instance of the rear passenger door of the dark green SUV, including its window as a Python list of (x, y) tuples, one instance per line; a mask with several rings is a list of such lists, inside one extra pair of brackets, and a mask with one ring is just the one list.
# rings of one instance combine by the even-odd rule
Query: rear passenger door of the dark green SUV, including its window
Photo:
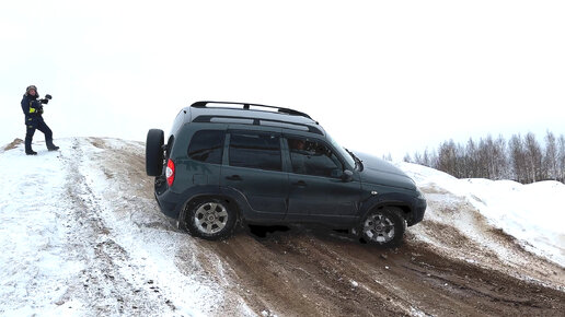
[(280, 133), (229, 131), (228, 165), (220, 184), (241, 192), (251, 219), (282, 220), (287, 211), (288, 173), (282, 172)]

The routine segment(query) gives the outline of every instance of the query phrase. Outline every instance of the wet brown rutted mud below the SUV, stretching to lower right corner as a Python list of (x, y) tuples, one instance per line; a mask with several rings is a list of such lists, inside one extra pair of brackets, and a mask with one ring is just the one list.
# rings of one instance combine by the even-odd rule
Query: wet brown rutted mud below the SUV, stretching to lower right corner
[[(327, 233), (291, 231), (211, 244), (250, 305), (281, 315), (545, 315), (565, 294), (441, 257), (420, 243), (382, 250)], [(250, 272), (253, 272), (252, 274)]]

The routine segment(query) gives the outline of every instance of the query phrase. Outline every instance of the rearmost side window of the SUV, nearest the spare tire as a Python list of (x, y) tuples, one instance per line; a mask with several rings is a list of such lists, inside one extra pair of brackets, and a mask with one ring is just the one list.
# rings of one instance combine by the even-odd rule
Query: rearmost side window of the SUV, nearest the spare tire
[(201, 130), (194, 133), (188, 145), (188, 157), (204, 163), (221, 164), (224, 131)]

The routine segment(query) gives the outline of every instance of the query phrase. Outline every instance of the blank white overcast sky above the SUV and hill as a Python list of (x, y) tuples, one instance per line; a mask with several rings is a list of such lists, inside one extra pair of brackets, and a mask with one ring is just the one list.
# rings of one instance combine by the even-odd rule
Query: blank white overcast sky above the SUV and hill
[(25, 136), (30, 84), (54, 96), (56, 139), (145, 141), (214, 99), (296, 108), (395, 158), (541, 141), (565, 133), (564, 16), (565, 1), (2, 1), (0, 144)]

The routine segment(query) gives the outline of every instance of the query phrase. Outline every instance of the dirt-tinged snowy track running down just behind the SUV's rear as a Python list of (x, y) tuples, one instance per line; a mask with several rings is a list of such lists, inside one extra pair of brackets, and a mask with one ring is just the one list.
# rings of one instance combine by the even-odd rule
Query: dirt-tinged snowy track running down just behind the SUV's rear
[[(168, 304), (173, 312), (177, 312), (174, 305), (180, 304), (183, 308), (193, 305), (194, 301), (185, 301), (178, 297), (196, 297), (196, 306), (199, 306), (197, 314), (228, 316), (253, 315), (238, 293), (224, 292), (229, 289), (230, 280), (222, 274), (223, 265), (219, 257), (208, 248), (203, 248), (199, 239), (182, 233), (175, 227), (175, 221), (170, 220), (159, 211), (153, 197), (153, 181), (145, 173), (145, 146), (140, 142), (125, 142), (120, 140), (89, 138), (88, 141), (95, 148), (102, 150), (94, 154), (96, 165), (101, 167), (104, 176), (112, 186), (112, 192), (106, 192), (104, 199), (112, 203), (114, 216), (137, 226), (135, 233), (140, 238), (138, 248), (146, 249), (154, 247), (151, 232), (166, 240), (159, 245), (159, 249), (168, 248), (165, 256), (170, 257), (171, 275), (161, 275), (161, 279), (178, 279), (178, 274), (186, 277), (186, 282), (194, 283), (193, 287), (182, 290), (186, 293), (178, 293), (178, 289), (171, 286), (170, 281), (162, 285), (162, 293), (169, 294), (173, 300)], [(107, 142), (106, 142), (107, 141)], [(116, 195), (118, 192), (118, 195)], [(118, 197), (116, 197), (118, 196)], [(149, 243), (145, 245), (143, 242)], [(154, 256), (154, 255), (153, 255)], [(150, 257), (150, 255), (148, 255)], [(139, 260), (139, 259), (138, 259)], [(152, 262), (152, 259), (148, 259)], [(140, 272), (142, 275), (143, 272)], [(155, 283), (159, 282), (155, 280)], [(205, 289), (203, 291), (203, 289)], [(197, 292), (197, 294), (192, 294)], [(163, 302), (161, 300), (161, 302)], [(165, 301), (165, 303), (169, 300)], [(181, 309), (175, 313), (180, 315), (192, 315), (194, 312)], [(161, 314), (157, 314), (161, 315)]]

